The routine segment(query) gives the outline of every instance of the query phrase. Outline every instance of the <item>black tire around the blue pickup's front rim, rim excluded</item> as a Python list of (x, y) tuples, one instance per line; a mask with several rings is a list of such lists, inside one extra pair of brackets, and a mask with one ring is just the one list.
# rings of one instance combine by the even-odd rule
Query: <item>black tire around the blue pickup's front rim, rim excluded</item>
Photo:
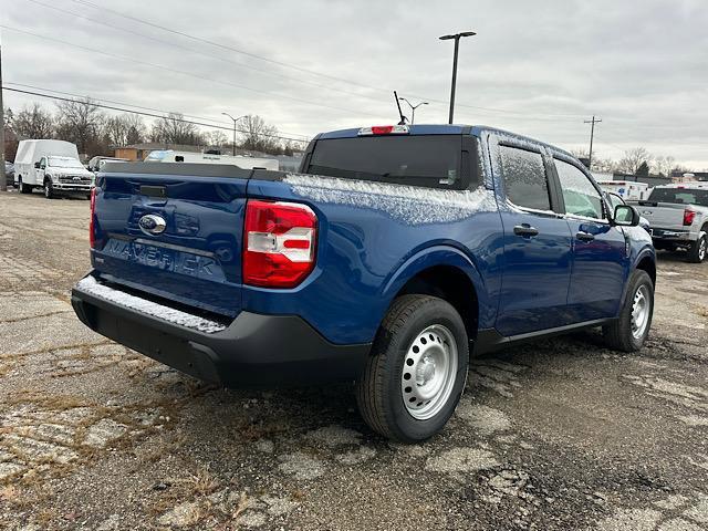
[[(643, 326), (643, 333), (636, 336), (633, 332), (633, 310), (635, 298), (639, 290), (645, 290), (648, 298), (649, 308), (646, 319), (646, 325)], [(625, 295), (624, 303), (620, 310), (620, 317), (603, 326), (602, 332), (605, 337), (605, 343), (610, 348), (621, 352), (637, 352), (644, 345), (647, 336), (649, 335), (649, 329), (652, 327), (652, 317), (654, 315), (654, 282), (646, 271), (639, 269), (634, 270), (629, 278), (629, 284), (627, 285), (627, 293)]]

